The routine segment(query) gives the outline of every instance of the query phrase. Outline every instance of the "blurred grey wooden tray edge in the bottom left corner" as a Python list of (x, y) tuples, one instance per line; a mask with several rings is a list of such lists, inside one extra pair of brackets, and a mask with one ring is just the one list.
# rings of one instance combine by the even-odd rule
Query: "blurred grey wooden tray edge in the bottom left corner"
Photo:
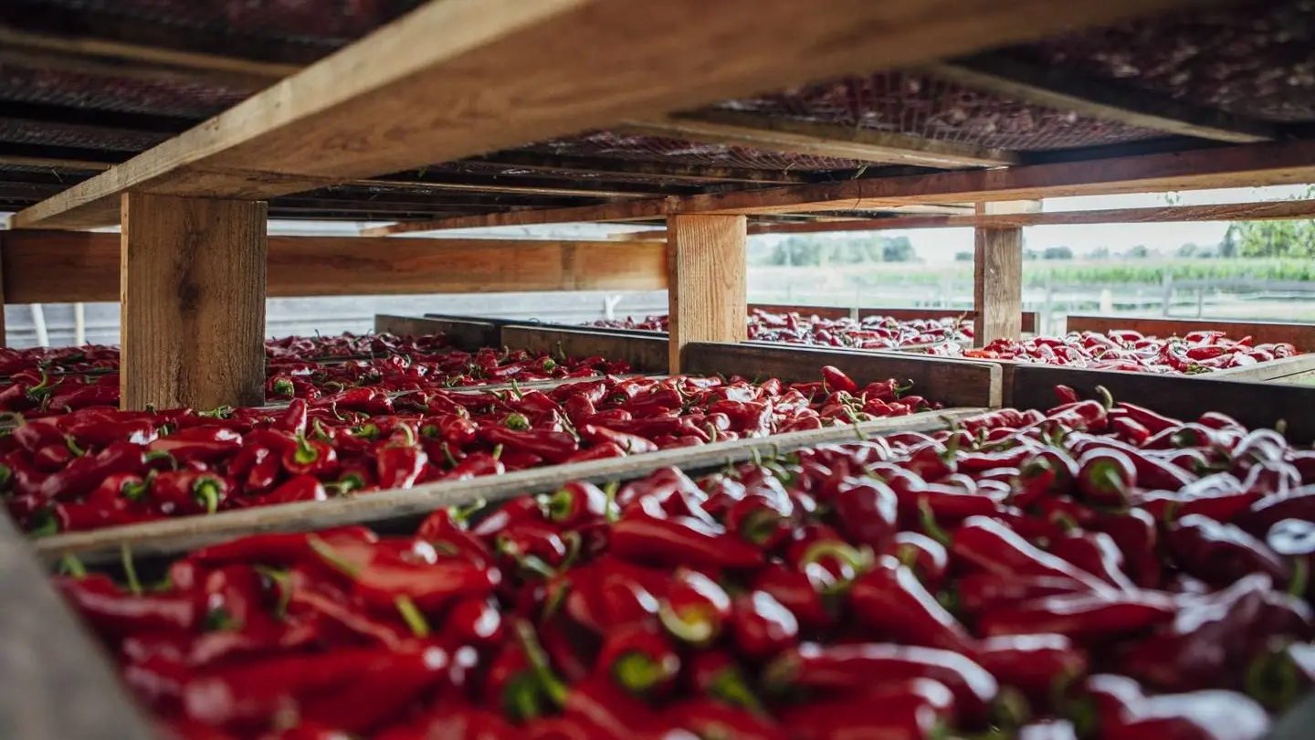
[(0, 516), (0, 737), (142, 740), (150, 723), (109, 657), (51, 589), (29, 541)]

